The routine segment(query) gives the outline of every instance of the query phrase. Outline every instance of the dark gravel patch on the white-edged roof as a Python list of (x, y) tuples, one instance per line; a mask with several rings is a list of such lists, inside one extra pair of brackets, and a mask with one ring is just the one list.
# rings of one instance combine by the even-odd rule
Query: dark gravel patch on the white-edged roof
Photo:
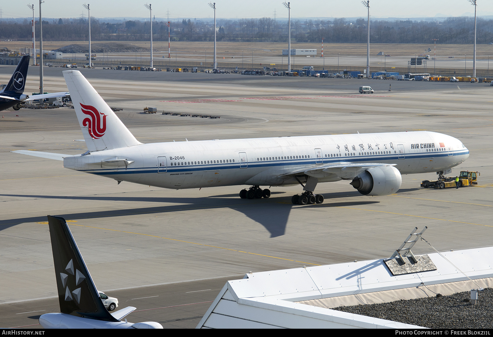
[(442, 297), (339, 306), (333, 309), (433, 329), (492, 329), (493, 289), (479, 291), (476, 305), (470, 302), (470, 298), (469, 292), (463, 292)]

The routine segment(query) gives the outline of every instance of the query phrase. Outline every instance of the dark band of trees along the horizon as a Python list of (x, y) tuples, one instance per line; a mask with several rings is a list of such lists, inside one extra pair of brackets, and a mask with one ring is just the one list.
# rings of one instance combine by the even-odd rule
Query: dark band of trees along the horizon
[[(168, 26), (165, 21), (152, 24), (152, 38), (155, 41), (168, 40)], [(287, 41), (288, 24), (272, 18), (217, 20), (218, 41), (283, 42)], [(291, 40), (293, 42), (365, 43), (367, 21), (363, 18), (348, 20), (292, 20)], [(39, 24), (36, 23), (36, 32)], [(91, 39), (93, 41), (144, 41), (149, 40), (150, 22), (127, 20), (121, 23), (101, 22), (91, 18)], [(88, 39), (88, 20), (55, 19), (43, 20), (43, 40), (77, 41)], [(214, 39), (213, 22), (183, 19), (171, 23), (173, 41), (211, 41)], [(381, 20), (370, 22), (372, 43), (472, 43), (474, 39), (474, 18), (449, 17), (438, 21)], [(31, 40), (31, 21), (0, 22), (0, 39)], [(36, 33), (38, 39), (38, 33)], [(493, 20), (477, 19), (477, 43), (493, 42)]]

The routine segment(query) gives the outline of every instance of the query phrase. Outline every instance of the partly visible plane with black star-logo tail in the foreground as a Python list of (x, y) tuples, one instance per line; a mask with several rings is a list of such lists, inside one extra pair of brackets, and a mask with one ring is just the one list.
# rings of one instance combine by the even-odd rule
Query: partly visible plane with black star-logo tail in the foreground
[(157, 322), (129, 323), (127, 306), (109, 313), (101, 301), (79, 248), (64, 218), (48, 215), (60, 311), (39, 316), (45, 329), (163, 329)]

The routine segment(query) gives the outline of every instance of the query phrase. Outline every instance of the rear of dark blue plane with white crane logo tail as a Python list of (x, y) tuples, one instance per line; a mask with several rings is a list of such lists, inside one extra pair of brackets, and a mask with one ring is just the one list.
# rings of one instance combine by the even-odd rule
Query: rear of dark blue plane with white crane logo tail
[(26, 86), (26, 77), (28, 74), (30, 56), (26, 55), (21, 58), (19, 64), (14, 70), (12, 77), (8, 81), (5, 88), (0, 91), (0, 111), (1, 110), (19, 110), (22, 103), (25, 101), (33, 101), (39, 99), (63, 97), (69, 95), (68, 92), (50, 93), (42, 95), (33, 95), (31, 98), (24, 94)]

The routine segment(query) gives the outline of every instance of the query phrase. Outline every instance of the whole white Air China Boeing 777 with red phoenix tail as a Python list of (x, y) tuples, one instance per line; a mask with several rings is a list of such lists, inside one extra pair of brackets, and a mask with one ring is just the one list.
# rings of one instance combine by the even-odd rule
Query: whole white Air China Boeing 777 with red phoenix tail
[(387, 196), (401, 186), (401, 174), (443, 174), (467, 159), (457, 138), (434, 132), (319, 135), (275, 138), (139, 142), (77, 70), (65, 81), (88, 151), (63, 155), (16, 153), (58, 159), (64, 167), (171, 189), (251, 185), (241, 198), (269, 198), (260, 186), (300, 184), (293, 204), (323, 202), (318, 182), (351, 180), (361, 194)]

